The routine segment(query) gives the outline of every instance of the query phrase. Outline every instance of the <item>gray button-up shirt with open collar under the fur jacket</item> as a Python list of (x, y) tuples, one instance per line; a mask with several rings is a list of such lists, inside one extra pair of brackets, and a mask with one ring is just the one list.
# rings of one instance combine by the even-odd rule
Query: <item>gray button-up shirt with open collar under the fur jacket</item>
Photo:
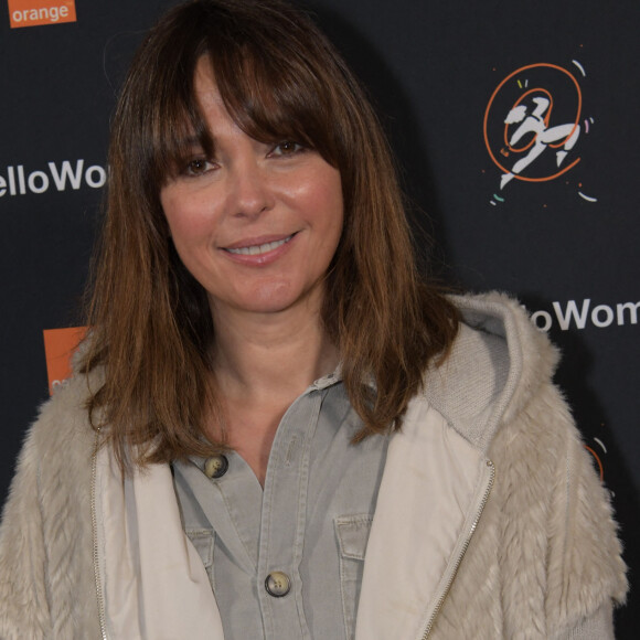
[(282, 417), (264, 490), (235, 452), (220, 478), (204, 473), (204, 460), (173, 465), (184, 530), (209, 573), (225, 640), (353, 638), (388, 444), (374, 436), (352, 445), (361, 425), (332, 374)]

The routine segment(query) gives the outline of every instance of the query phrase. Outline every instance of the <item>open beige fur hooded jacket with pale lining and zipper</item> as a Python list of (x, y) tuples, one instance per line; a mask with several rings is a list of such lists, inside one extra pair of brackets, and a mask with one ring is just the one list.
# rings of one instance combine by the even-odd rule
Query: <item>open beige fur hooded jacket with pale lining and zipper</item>
[[(356, 639), (611, 637), (610, 607), (627, 590), (625, 565), (607, 493), (551, 383), (555, 351), (502, 296), (458, 303), (466, 324), (452, 352), (426, 373), (424, 394), (392, 440)], [(109, 563), (117, 561), (96, 534), (109, 531), (109, 518), (100, 506), (106, 494), (93, 493), (100, 476), (86, 394), (82, 377), (56, 393), (19, 459), (0, 529), (4, 640), (161, 640), (145, 630), (150, 620), (127, 627), (104, 606), (114, 588)], [(150, 476), (126, 482), (147, 482), (150, 495), (174, 503)], [(178, 531), (179, 521), (173, 525)], [(127, 553), (139, 559), (135, 546)], [(139, 572), (130, 574), (116, 588), (131, 589), (132, 599), (156, 593)], [(393, 580), (394, 597), (381, 576)], [(200, 588), (194, 593), (215, 609), (213, 595)], [(146, 614), (167, 629), (162, 638), (223, 638), (221, 628), (199, 634), (198, 616), (194, 633), (169, 631), (186, 616), (171, 611), (168, 589), (169, 597), (158, 589)], [(135, 618), (145, 615), (134, 609)]]

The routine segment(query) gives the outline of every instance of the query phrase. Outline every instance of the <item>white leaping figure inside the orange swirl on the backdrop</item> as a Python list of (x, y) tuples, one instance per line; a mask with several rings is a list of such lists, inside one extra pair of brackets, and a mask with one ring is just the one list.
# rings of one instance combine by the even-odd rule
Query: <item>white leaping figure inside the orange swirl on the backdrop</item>
[(500, 180), (500, 189), (513, 180), (515, 174), (520, 173), (525, 167), (529, 167), (546, 148), (548, 145), (565, 140), (562, 147), (556, 151), (556, 162), (559, 167), (566, 158), (568, 151), (573, 149), (580, 135), (580, 126), (577, 124), (558, 125), (556, 127), (547, 127), (544, 121), (544, 114), (548, 109), (550, 100), (544, 97), (535, 97), (532, 100), (535, 103), (533, 111), (527, 114), (529, 107), (525, 105), (518, 105), (509, 111), (504, 122), (513, 125), (522, 122), (509, 140), (509, 145), (513, 147), (526, 134), (534, 132), (535, 139), (529, 150), (529, 153), (521, 158), (513, 164), (509, 173), (503, 173)]

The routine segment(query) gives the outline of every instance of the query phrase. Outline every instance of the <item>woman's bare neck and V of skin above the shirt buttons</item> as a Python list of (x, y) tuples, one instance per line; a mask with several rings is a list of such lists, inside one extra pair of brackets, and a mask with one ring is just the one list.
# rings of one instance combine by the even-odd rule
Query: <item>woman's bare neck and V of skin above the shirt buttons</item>
[[(301, 311), (255, 314), (212, 309), (213, 370), (224, 412), (223, 437), (263, 486), (287, 407), (339, 362), (319, 311)], [(211, 425), (214, 438), (222, 436), (218, 428)]]

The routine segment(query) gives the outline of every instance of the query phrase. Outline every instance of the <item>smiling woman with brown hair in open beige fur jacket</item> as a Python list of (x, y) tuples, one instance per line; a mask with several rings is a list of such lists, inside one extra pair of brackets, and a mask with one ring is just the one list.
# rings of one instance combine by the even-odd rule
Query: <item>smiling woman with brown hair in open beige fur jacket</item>
[(279, 0), (151, 31), (76, 375), (21, 454), (2, 638), (612, 637), (625, 566), (499, 295), (416, 270), (390, 153)]

